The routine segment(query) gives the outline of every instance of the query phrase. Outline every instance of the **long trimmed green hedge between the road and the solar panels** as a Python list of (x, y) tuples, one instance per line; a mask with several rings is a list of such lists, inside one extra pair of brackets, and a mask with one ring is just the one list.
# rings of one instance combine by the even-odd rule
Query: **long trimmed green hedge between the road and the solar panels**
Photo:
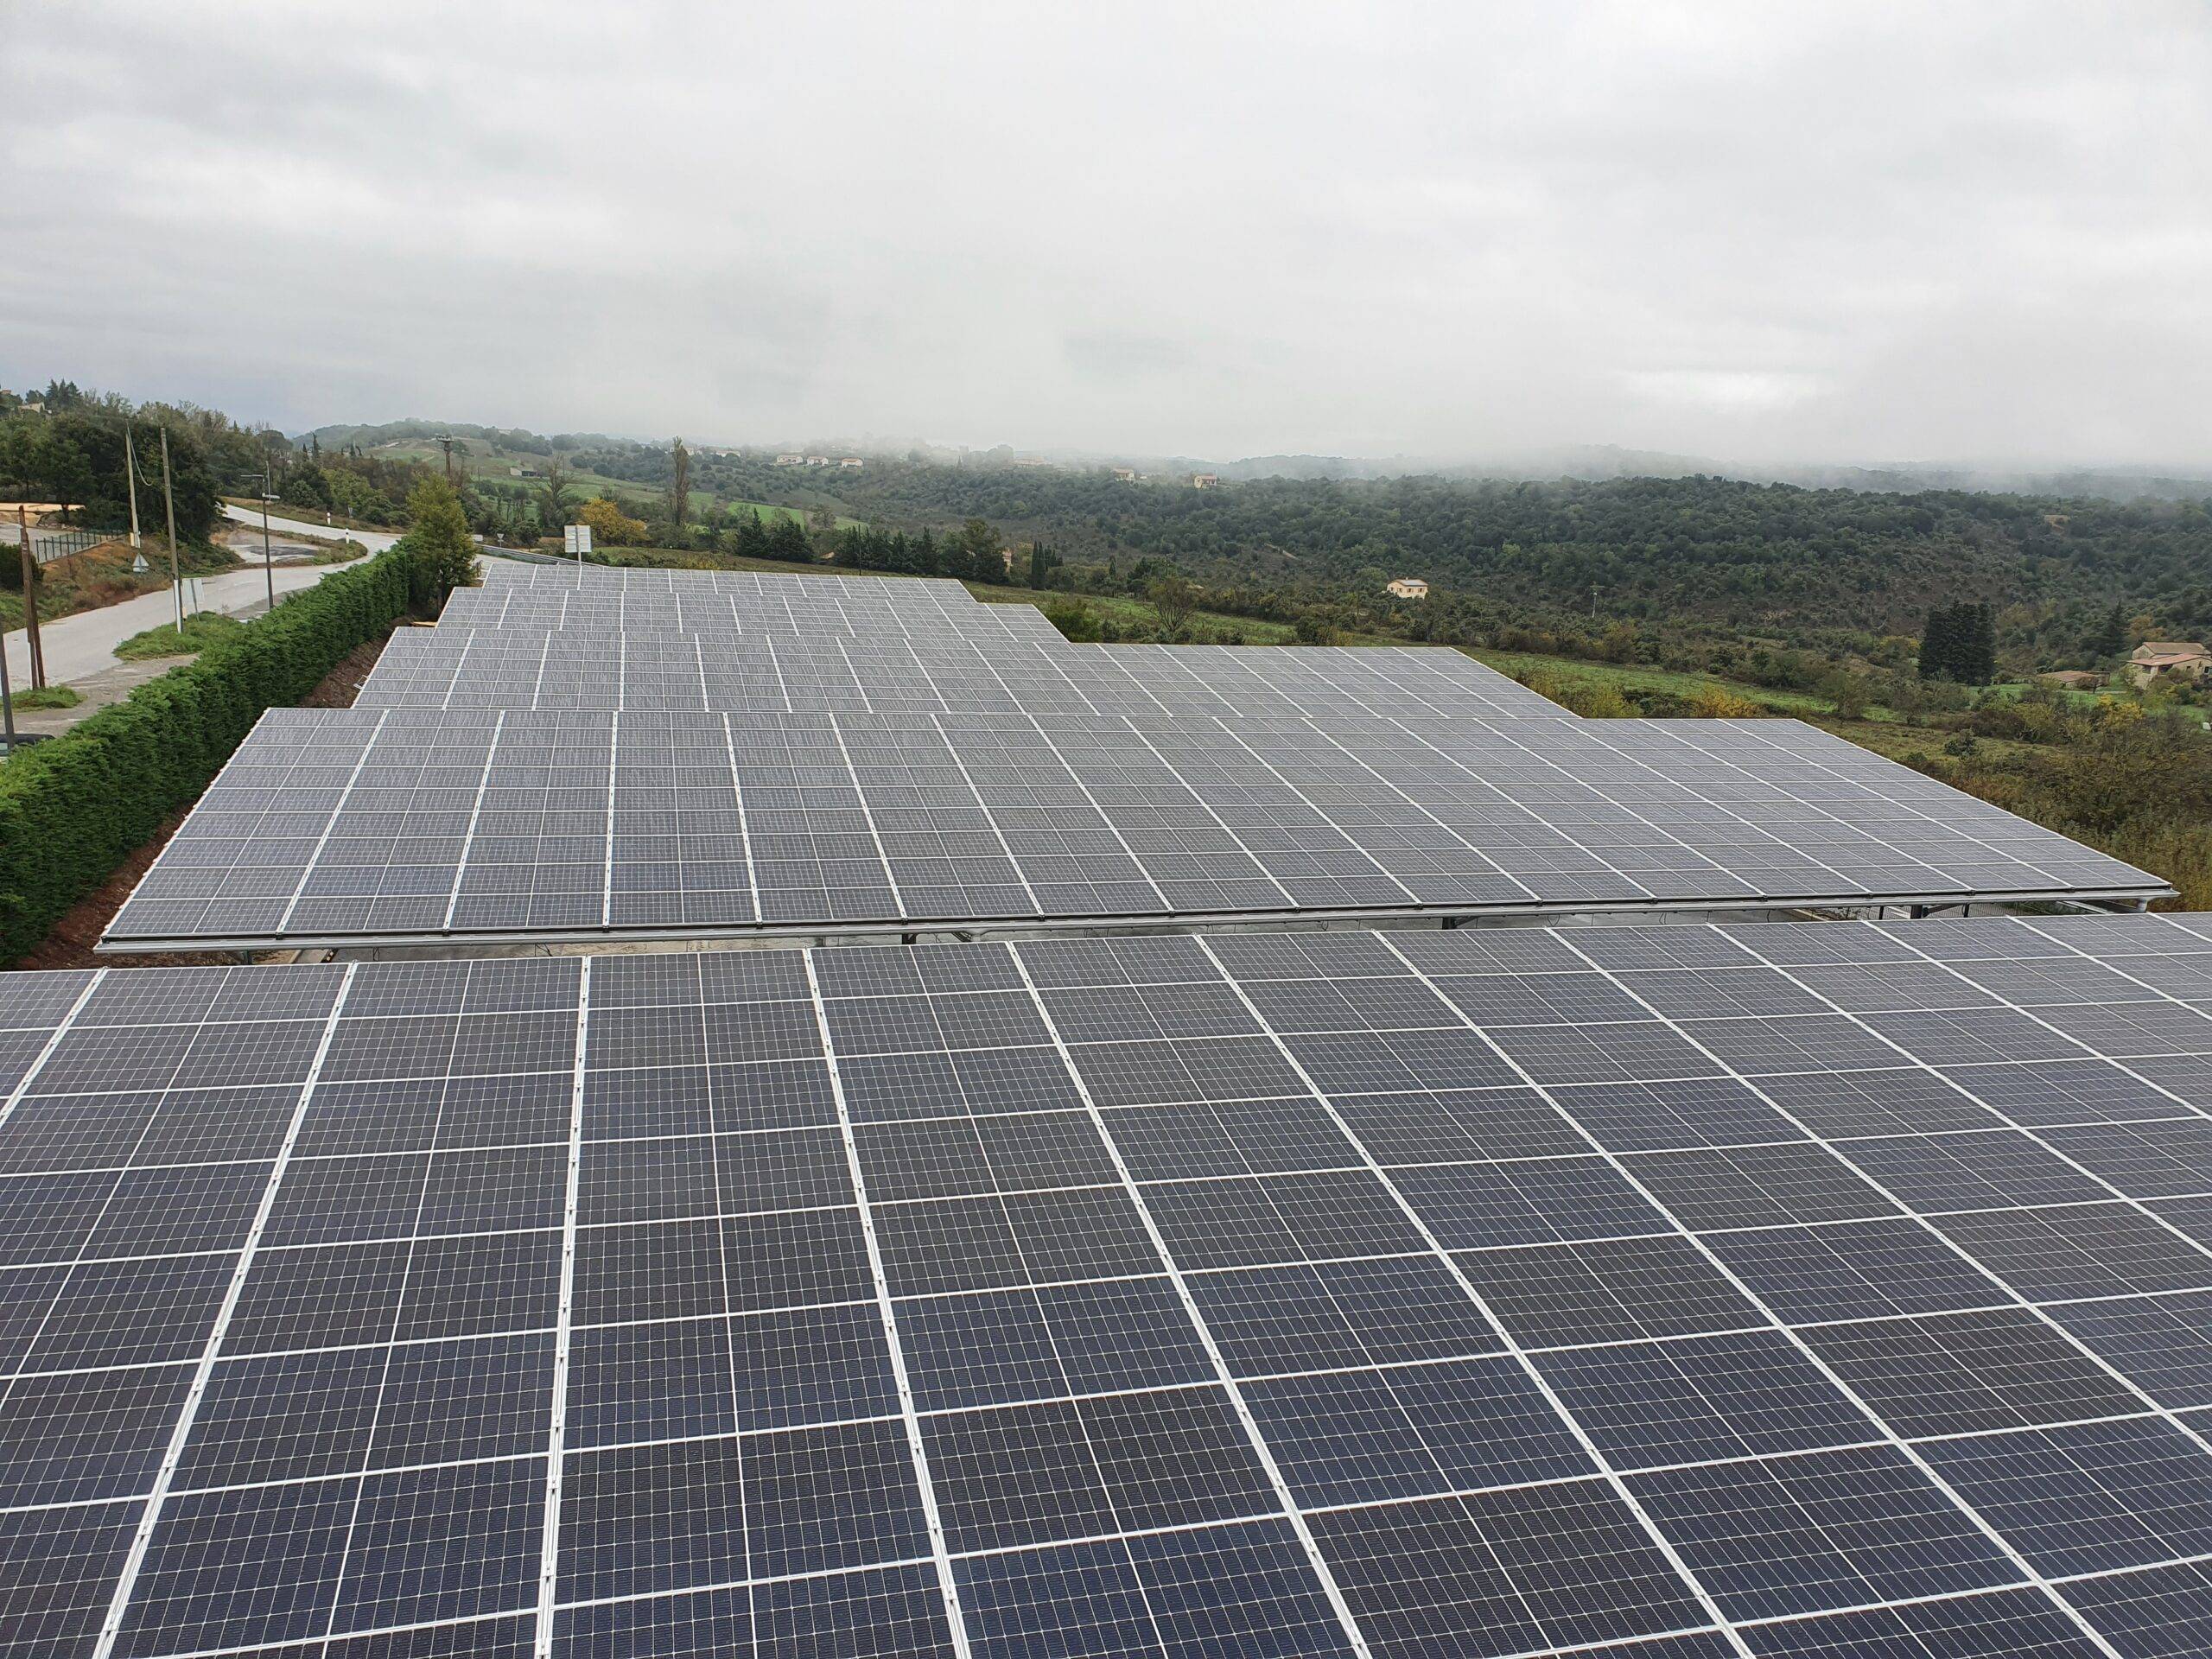
[(199, 799), (261, 710), (296, 703), (407, 608), (407, 551), (323, 577), (237, 639), (0, 765), (0, 960)]

